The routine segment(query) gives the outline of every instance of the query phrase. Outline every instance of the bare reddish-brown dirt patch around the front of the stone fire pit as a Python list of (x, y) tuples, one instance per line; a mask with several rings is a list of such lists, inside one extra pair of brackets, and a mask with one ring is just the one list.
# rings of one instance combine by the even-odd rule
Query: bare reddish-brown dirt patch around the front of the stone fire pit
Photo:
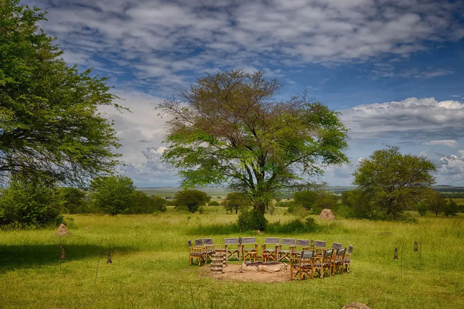
[(241, 264), (228, 264), (222, 269), (223, 273), (213, 275), (210, 273), (210, 266), (200, 267), (200, 276), (213, 277), (218, 280), (245, 281), (245, 282), (287, 282), (290, 281), (290, 270), (264, 272), (264, 271), (242, 271)]

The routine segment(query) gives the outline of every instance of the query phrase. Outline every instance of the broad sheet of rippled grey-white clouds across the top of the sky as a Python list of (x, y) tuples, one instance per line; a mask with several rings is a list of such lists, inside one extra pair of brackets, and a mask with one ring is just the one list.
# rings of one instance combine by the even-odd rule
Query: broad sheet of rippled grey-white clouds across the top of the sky
[[(381, 6), (375, 0), (33, 4), (49, 12), (50, 21), (42, 27), (60, 38), (68, 61), (109, 72), (123, 69), (136, 78), (153, 78), (158, 87), (188, 79), (189, 70), (261, 68), (264, 61), (333, 65), (385, 54), (407, 57), (429, 49), (430, 42), (464, 37), (456, 18), (463, 10), (458, 1), (390, 0)], [(412, 76), (450, 72), (437, 69)]]

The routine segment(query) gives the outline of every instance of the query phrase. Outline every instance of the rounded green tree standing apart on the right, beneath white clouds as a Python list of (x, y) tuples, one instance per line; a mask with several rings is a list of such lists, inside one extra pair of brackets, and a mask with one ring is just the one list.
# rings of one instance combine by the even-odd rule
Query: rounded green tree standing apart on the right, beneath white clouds
[(411, 209), (435, 183), (435, 165), (424, 157), (401, 154), (400, 147), (387, 146), (362, 160), (353, 173), (353, 184), (363, 190), (380, 210), (393, 220)]

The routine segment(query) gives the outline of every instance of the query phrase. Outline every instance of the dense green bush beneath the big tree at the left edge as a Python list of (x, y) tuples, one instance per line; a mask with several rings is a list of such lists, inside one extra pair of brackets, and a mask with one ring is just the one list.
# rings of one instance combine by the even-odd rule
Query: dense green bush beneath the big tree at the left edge
[(0, 226), (35, 228), (63, 222), (63, 196), (55, 187), (34, 178), (14, 178), (1, 189)]

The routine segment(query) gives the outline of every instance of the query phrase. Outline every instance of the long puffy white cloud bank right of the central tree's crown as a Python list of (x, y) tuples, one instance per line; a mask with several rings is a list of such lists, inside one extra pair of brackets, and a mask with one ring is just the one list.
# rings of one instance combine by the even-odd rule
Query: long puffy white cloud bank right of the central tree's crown
[[(364, 104), (342, 110), (342, 120), (355, 138), (383, 136), (388, 132), (426, 131), (440, 134), (464, 129), (464, 103), (415, 97), (403, 101)], [(430, 144), (429, 144), (430, 145)]]

